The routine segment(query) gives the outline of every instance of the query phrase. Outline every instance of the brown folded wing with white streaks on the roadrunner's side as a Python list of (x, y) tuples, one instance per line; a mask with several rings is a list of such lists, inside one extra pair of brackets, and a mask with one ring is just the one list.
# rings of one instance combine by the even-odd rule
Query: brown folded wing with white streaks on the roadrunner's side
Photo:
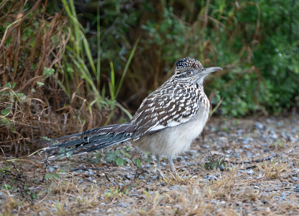
[[(167, 83), (166, 83), (167, 85)], [(192, 89), (193, 88), (193, 89)], [(200, 95), (196, 86), (160, 87), (147, 96), (132, 119), (133, 141), (167, 127), (187, 122), (199, 109)]]

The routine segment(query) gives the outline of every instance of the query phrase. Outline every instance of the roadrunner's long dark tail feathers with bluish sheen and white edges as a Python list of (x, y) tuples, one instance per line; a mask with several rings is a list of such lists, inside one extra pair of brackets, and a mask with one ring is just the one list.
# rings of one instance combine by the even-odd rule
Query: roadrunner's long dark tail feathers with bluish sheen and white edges
[[(131, 123), (108, 125), (100, 128), (93, 128), (78, 134), (72, 134), (65, 137), (60, 137), (53, 141), (62, 142), (57, 145), (43, 148), (43, 151), (52, 152), (53, 150), (65, 148), (65, 151), (55, 153), (50, 158), (55, 158), (62, 154), (84, 154), (91, 151), (99, 150), (116, 143), (122, 143), (129, 139), (134, 132), (134, 127)], [(77, 138), (77, 139), (73, 139)], [(70, 149), (68, 149), (70, 148)]]

